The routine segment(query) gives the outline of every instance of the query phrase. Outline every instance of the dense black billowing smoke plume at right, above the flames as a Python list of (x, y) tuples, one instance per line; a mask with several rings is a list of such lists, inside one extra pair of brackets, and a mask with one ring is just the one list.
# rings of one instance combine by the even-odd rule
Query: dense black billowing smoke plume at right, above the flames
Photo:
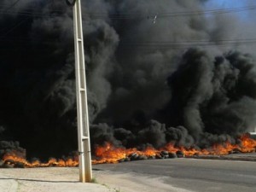
[(166, 118), (197, 140), (205, 131), (232, 136), (248, 131), (256, 119), (255, 69), (250, 55), (229, 52), (212, 59), (189, 49), (168, 79), (173, 91)]

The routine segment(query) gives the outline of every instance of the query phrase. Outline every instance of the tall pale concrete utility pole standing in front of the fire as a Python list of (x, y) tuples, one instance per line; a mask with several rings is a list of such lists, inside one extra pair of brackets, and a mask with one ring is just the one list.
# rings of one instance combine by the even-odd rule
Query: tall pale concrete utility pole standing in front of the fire
[(90, 131), (87, 105), (87, 90), (84, 65), (84, 38), (80, 0), (73, 0), (74, 44), (75, 44), (75, 75), (78, 108), (79, 135), (79, 179), (80, 182), (91, 182)]

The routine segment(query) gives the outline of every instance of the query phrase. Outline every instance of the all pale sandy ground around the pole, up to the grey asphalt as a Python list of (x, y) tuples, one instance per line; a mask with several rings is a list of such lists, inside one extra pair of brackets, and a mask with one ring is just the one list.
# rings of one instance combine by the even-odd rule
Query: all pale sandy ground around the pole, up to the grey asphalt
[(79, 183), (79, 168), (49, 167), (0, 169), (1, 192), (158, 192), (181, 191), (162, 182), (161, 177), (145, 177), (106, 171), (93, 171), (96, 183)]

